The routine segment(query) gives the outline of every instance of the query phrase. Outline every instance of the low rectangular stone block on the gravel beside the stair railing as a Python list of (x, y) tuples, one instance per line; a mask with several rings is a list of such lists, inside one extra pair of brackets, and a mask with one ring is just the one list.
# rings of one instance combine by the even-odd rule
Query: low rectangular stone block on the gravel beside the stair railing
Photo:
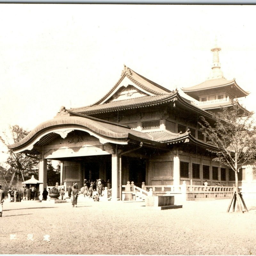
[(174, 196), (147, 196), (145, 203), (158, 210), (182, 208), (182, 205), (174, 205)]

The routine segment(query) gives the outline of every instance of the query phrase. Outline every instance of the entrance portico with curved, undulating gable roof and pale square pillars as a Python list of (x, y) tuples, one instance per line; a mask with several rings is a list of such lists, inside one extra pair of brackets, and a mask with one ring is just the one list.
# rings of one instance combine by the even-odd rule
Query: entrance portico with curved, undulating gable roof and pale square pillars
[(62, 162), (61, 181), (76, 181), (80, 186), (86, 175), (86, 164), (88, 167), (90, 163), (97, 163), (99, 175), (107, 178), (109, 169), (104, 163), (108, 163), (108, 166), (111, 165), (112, 200), (117, 200), (121, 195), (122, 182), (126, 184), (129, 178), (129, 170), (125, 162), (122, 164), (122, 158), (129, 156), (129, 153), (130, 156), (143, 156), (140, 152), (134, 154), (143, 143), (146, 148), (163, 147), (152, 141), (148, 134), (131, 130), (125, 125), (88, 116), (71, 116), (64, 109), (57, 118), (38, 125), (9, 148), (15, 153), (23, 152), (39, 158), (39, 180), (43, 182), (40, 191), (46, 188), (47, 159)]

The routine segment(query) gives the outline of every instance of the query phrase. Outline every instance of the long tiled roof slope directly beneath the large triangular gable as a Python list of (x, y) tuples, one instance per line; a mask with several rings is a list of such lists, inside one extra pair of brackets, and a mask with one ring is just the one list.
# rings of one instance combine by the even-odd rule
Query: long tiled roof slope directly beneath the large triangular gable
[(129, 108), (132, 106), (145, 105), (147, 103), (156, 103), (158, 101), (167, 100), (168, 98), (171, 98), (176, 93), (177, 91), (156, 95), (156, 96), (143, 96), (143, 97), (133, 98), (129, 100), (117, 100), (117, 101), (112, 101), (112, 102), (100, 104), (100, 105), (72, 108), (70, 109), (70, 111), (76, 112), (76, 113), (88, 113), (88, 112), (91, 113), (91, 112), (102, 112), (104, 110), (108, 110), (111, 108), (124, 108), (124, 107)]

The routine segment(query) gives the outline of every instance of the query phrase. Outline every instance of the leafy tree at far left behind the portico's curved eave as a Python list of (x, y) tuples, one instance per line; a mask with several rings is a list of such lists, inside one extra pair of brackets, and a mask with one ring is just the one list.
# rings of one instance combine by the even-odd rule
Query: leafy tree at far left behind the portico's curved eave
[[(17, 143), (18, 141), (22, 140), (24, 137), (28, 135), (29, 131), (24, 130), (19, 125), (10, 125), (8, 132), (2, 132), (2, 136), (0, 136), (0, 140), (4, 145), (10, 145), (13, 143)], [(30, 175), (29, 172), (26, 170), (30, 170), (35, 172), (38, 170), (38, 159), (30, 158), (26, 156), (24, 153), (16, 153), (14, 154), (12, 149), (8, 149), (8, 158), (5, 162), (10, 166), (10, 168), (7, 170), (6, 174), (10, 174), (15, 172), (16, 180), (17, 180), (17, 186), (20, 186), (20, 177), (21, 172), (24, 174), (26, 178)], [(2, 172), (1, 172), (2, 173)], [(32, 175), (32, 174), (31, 174)], [(24, 177), (24, 179), (25, 179)], [(35, 176), (36, 177), (36, 176)], [(38, 175), (37, 175), (38, 177)], [(29, 179), (31, 176), (29, 177)], [(10, 180), (8, 180), (10, 182)]]

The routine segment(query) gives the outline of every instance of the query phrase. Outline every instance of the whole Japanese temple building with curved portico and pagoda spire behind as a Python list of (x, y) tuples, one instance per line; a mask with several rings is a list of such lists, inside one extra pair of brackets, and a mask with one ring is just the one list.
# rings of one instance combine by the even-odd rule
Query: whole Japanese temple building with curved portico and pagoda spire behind
[[(10, 145), (15, 153), (40, 157), (40, 191), (46, 187), (47, 159), (61, 161), (61, 182), (67, 186), (84, 179), (112, 182), (112, 199), (122, 198), (122, 185), (133, 181), (140, 186), (209, 185), (232, 186), (235, 173), (213, 162), (198, 121), (213, 123), (210, 111), (231, 106), (234, 98), (245, 97), (235, 79), (224, 78), (217, 45), (212, 72), (201, 84), (182, 88), (194, 100), (182, 97), (124, 66), (117, 83), (90, 106), (66, 109), (39, 124), (24, 139)], [(189, 98), (189, 97), (187, 97)], [(191, 99), (191, 98), (190, 98)], [(250, 176), (252, 167), (239, 172), (239, 185)], [(254, 183), (255, 184), (255, 183)]]

